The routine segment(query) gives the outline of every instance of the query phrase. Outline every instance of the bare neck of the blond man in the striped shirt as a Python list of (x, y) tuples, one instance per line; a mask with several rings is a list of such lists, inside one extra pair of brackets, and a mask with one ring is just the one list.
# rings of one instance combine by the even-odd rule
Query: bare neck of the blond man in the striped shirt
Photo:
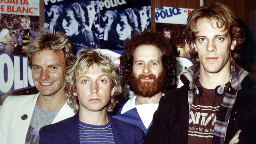
[(89, 111), (88, 109), (83, 109), (80, 107), (79, 116), (80, 121), (96, 126), (107, 124), (109, 121), (106, 108), (104, 108), (102, 111)]

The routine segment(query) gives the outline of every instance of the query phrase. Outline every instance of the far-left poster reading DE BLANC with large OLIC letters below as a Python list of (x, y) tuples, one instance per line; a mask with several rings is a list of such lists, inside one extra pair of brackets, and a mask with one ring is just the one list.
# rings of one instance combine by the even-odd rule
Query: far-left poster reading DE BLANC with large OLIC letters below
[[(34, 87), (26, 45), (39, 31), (39, 0), (0, 0), (0, 105)], [(24, 92), (24, 93), (22, 93)]]

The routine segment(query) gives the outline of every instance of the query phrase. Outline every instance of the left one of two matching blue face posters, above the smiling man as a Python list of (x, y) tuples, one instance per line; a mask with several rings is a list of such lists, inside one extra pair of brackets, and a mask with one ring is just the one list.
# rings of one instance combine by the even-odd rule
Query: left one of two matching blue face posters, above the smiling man
[(45, 28), (63, 31), (78, 52), (99, 46), (99, 0), (45, 0)]

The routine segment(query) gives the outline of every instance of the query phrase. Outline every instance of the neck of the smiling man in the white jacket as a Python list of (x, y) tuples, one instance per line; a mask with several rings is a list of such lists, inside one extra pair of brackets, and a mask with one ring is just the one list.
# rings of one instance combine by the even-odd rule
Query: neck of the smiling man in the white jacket
[(37, 98), (37, 105), (46, 111), (56, 111), (61, 109), (61, 107), (63, 107), (67, 102), (67, 98), (65, 97), (63, 90), (59, 91), (61, 92), (57, 92), (58, 94), (54, 94), (52, 96), (44, 96), (40, 93)]

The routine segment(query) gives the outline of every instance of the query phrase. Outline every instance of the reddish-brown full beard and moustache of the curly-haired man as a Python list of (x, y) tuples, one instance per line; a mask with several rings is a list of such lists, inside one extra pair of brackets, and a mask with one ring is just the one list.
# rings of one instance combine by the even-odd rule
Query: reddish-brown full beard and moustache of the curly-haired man
[[(141, 79), (143, 78), (150, 78), (153, 79), (153, 81), (141, 82)], [(154, 74), (140, 74), (138, 78), (136, 78), (132, 72), (130, 87), (135, 95), (151, 98), (163, 90), (165, 86), (165, 79), (166, 75), (164, 70), (162, 70), (158, 78), (156, 78)]]

